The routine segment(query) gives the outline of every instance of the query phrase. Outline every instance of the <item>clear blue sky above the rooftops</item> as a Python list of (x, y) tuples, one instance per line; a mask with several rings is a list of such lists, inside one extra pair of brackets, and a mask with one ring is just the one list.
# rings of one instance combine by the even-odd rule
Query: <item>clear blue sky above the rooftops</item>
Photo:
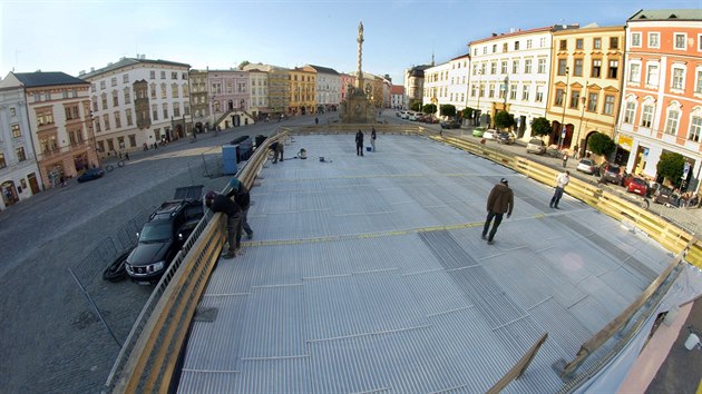
[(77, 76), (121, 57), (228, 69), (241, 61), (357, 68), (390, 75), (465, 55), (469, 41), (555, 23), (625, 24), (640, 9), (702, 8), (702, 0), (0, 0), (2, 78), (9, 71)]

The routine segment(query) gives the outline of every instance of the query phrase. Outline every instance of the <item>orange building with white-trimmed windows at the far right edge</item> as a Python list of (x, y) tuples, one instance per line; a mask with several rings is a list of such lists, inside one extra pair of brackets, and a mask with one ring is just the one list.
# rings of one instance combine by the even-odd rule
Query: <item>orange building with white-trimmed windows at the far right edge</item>
[(618, 147), (630, 173), (656, 178), (663, 152), (685, 157), (683, 189), (699, 190), (702, 161), (702, 18), (699, 10), (642, 10), (626, 21)]

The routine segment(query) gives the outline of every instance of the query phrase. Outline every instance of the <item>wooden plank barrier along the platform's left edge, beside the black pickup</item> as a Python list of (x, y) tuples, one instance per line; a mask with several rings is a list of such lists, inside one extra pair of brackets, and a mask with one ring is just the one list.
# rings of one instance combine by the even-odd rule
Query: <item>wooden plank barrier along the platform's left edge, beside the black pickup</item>
[[(236, 177), (248, 189), (267, 159), (267, 138)], [(144, 305), (110, 371), (106, 385), (116, 393), (166, 392), (191, 321), (225, 242), (225, 215), (207, 210)]]

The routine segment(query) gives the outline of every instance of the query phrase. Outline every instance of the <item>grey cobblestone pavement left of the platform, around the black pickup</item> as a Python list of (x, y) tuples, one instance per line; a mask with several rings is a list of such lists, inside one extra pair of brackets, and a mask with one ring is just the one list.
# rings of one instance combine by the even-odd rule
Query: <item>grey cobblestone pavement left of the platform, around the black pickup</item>
[(106, 265), (86, 256), (96, 247), (114, 253), (110, 237), (176, 187), (222, 189), (230, 177), (207, 175), (221, 171), (220, 145), (313, 122), (251, 125), (134, 152), (101, 179), (74, 179), (0, 213), (0, 392), (100, 392), (153, 287), (105, 282)]

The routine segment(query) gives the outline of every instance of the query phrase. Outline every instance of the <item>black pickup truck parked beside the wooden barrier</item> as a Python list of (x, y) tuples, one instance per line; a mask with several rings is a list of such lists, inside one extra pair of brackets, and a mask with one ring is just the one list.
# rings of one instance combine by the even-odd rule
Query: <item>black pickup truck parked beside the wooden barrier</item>
[(158, 282), (204, 215), (202, 200), (170, 200), (160, 205), (137, 233), (139, 242), (126, 260), (131, 280)]

